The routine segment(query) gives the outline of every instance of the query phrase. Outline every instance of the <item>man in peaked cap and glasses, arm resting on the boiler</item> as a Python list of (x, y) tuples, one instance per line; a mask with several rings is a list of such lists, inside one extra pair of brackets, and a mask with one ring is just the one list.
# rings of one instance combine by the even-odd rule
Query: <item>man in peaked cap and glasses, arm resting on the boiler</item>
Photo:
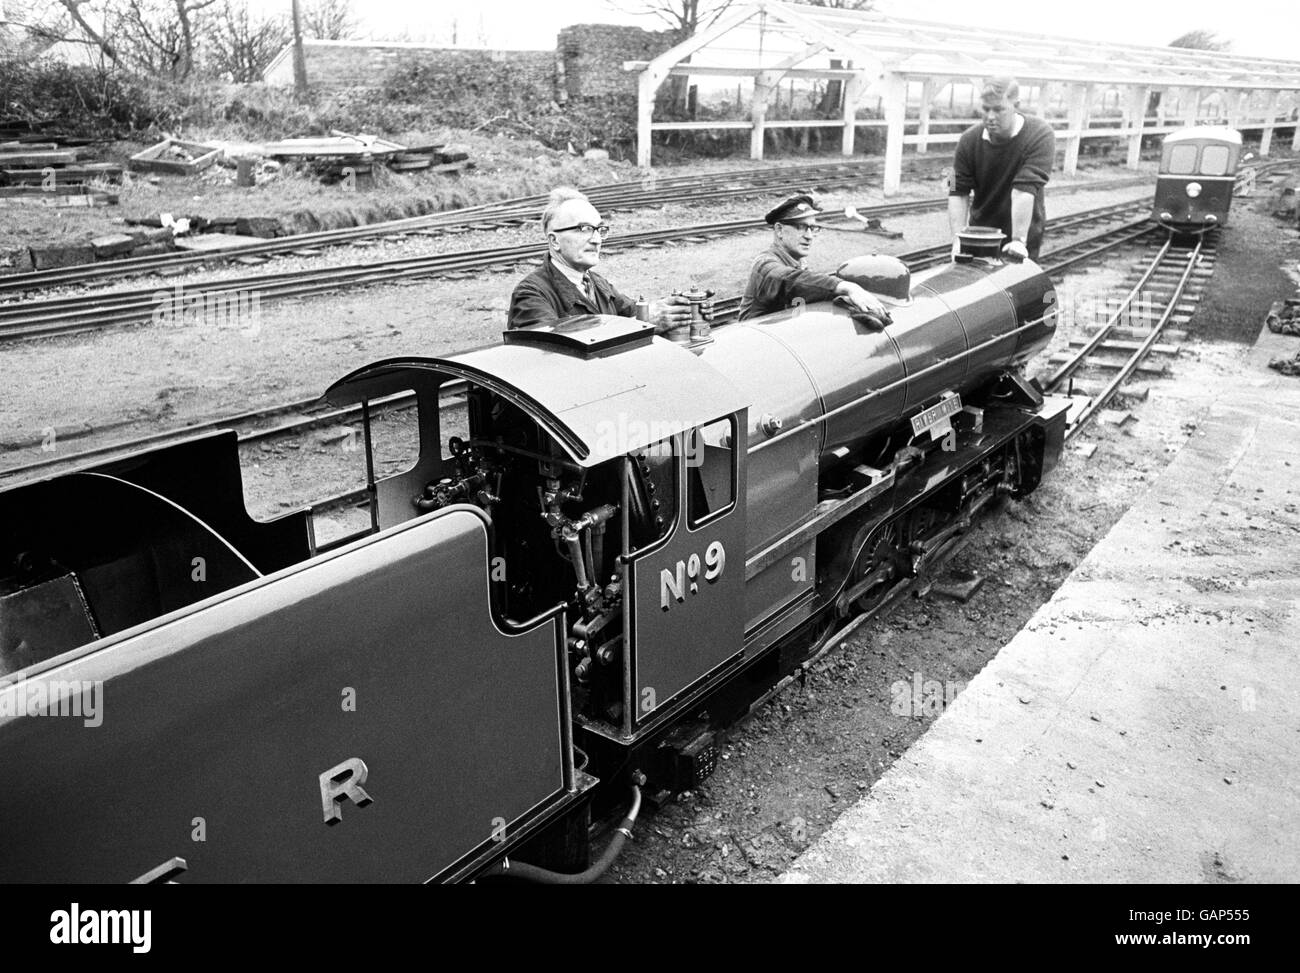
[(740, 302), (740, 320), (836, 297), (848, 299), (854, 311), (889, 320), (884, 304), (870, 291), (850, 281), (805, 269), (803, 259), (822, 230), (816, 222), (820, 212), (812, 196), (800, 193), (763, 217), (772, 228), (772, 246), (754, 258)]

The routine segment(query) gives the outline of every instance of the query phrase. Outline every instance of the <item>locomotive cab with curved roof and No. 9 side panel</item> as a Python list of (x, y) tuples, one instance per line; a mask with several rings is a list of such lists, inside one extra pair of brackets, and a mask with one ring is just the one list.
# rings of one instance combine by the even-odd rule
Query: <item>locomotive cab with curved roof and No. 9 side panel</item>
[(376, 363), (326, 395), (399, 389), (420, 402), (421, 455), (369, 486), (372, 520), (481, 509), (493, 610), (508, 623), (563, 606), (590, 732), (645, 735), (740, 653), (746, 402), (714, 368), (638, 321), (590, 316)]

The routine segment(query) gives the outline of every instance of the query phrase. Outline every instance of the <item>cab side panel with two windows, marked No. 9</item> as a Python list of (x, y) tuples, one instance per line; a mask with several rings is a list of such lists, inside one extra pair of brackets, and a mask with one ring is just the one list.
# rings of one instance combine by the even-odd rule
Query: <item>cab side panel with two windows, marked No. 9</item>
[(666, 714), (741, 652), (745, 451), (737, 442), (744, 442), (744, 415), (724, 416), (629, 458), (625, 509), (658, 500), (662, 536), (641, 542), (628, 518), (625, 734)]

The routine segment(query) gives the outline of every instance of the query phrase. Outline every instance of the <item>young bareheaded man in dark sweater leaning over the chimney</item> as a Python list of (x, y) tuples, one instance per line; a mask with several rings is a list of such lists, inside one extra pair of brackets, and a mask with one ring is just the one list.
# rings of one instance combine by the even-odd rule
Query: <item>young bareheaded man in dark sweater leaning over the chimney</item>
[(1043, 118), (1017, 111), (1020, 88), (1014, 78), (991, 78), (980, 91), (984, 120), (962, 133), (948, 196), (948, 224), (994, 226), (1006, 234), (1002, 252), (1039, 259), (1046, 209), (1046, 186), (1056, 156), (1056, 133)]

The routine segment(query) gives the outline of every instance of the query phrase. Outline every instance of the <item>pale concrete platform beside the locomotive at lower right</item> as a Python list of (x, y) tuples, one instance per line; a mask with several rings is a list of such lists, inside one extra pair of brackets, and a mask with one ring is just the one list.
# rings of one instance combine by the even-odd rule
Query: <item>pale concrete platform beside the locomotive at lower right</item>
[(783, 882), (1300, 881), (1297, 347)]

